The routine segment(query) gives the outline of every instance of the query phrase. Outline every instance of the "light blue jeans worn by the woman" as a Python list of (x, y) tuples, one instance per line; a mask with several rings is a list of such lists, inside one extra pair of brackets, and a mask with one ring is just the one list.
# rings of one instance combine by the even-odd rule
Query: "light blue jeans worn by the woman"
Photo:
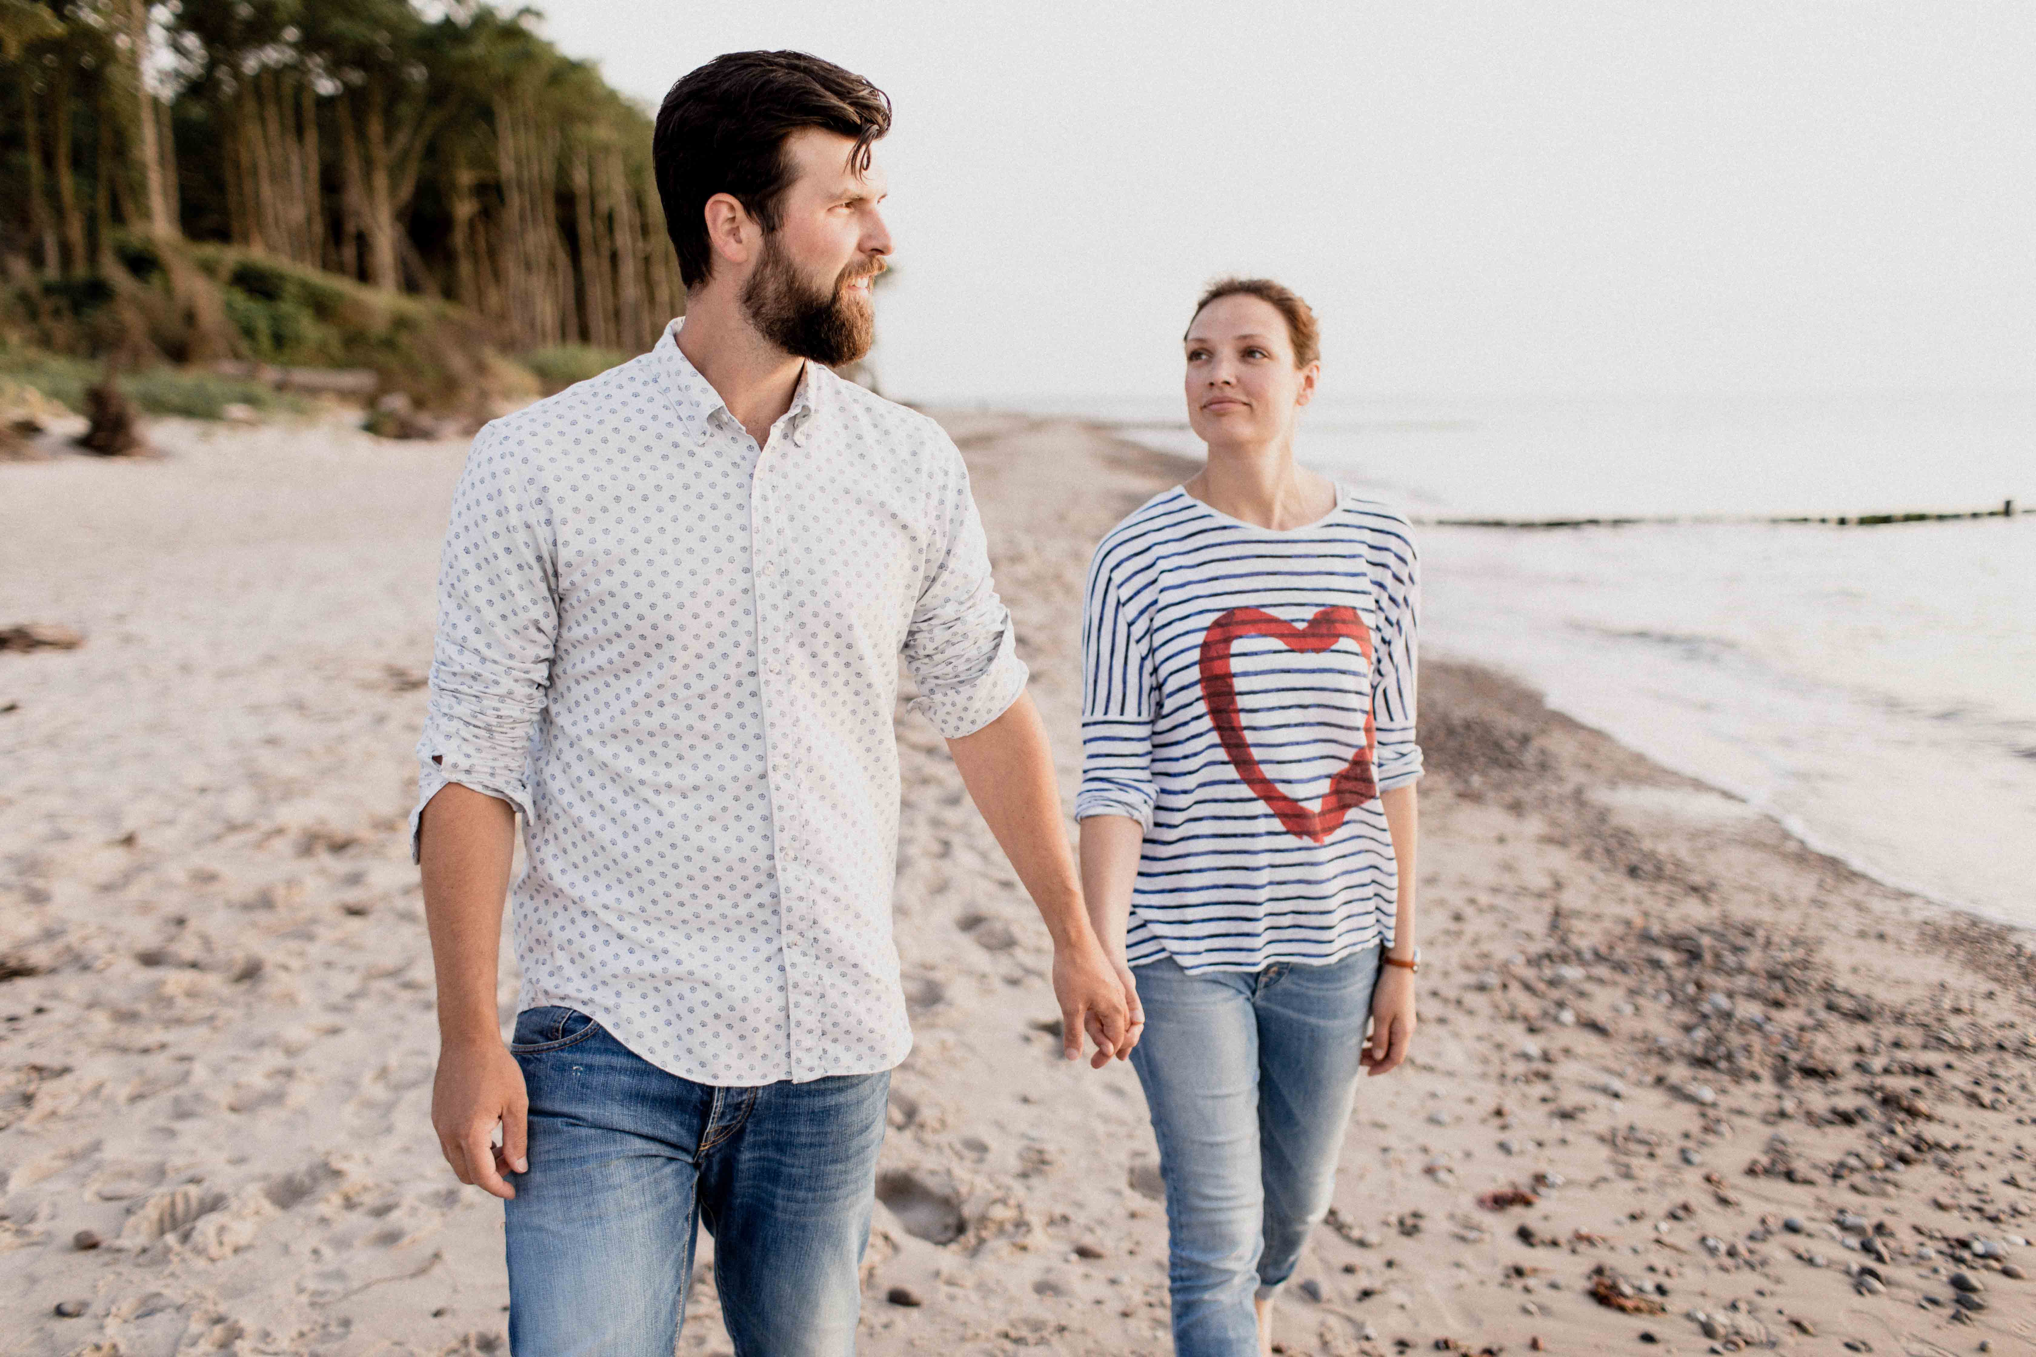
[(1327, 966), (1136, 968), (1132, 1048), (1167, 1184), (1179, 1357), (1256, 1357), (1254, 1296), (1293, 1276), (1330, 1211), (1378, 948)]

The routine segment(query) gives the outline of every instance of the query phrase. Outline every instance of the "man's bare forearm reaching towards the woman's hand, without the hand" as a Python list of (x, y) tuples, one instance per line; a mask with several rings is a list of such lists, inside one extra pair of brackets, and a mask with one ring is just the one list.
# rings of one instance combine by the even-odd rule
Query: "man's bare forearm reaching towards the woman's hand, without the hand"
[(1081, 946), (1095, 940), (1081, 905), (1081, 881), (1061, 822), (1061, 789), (1053, 779), (1047, 724), (1030, 694), (973, 734), (947, 743), (961, 783), (975, 800), (998, 846), (1047, 920), (1053, 944)]

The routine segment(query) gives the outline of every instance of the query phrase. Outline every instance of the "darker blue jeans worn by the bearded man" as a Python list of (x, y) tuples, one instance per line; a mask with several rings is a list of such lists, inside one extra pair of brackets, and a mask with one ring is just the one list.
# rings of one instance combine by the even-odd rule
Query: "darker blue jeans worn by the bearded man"
[(529, 1090), (507, 1202), (517, 1357), (672, 1357), (702, 1223), (739, 1357), (855, 1351), (888, 1072), (694, 1084), (574, 1009), (521, 1013), (509, 1050)]

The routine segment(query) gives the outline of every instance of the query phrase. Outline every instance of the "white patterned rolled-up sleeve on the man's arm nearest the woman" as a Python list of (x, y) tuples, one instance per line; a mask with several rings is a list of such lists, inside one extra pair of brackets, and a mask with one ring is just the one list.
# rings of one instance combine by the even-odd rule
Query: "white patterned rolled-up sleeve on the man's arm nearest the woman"
[(1008, 712), (1028, 671), (1018, 659), (1010, 608), (989, 578), (989, 543), (967, 468), (947, 435), (939, 439), (953, 468), (939, 515), (945, 541), (930, 551), (904, 639), (904, 665), (918, 686), (912, 710), (955, 741)]

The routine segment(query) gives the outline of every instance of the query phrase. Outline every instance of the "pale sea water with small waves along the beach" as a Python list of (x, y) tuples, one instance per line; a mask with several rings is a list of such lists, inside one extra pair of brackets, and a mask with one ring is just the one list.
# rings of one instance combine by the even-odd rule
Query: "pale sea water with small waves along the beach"
[[(1087, 403), (1197, 454), (1167, 403)], [(2036, 397), (1317, 405), (1309, 466), (1421, 523), (1478, 659), (1906, 889), (2036, 926)], [(1444, 519), (1649, 517), (1574, 529)], [(1710, 521), (1706, 521), (1710, 519)]]

